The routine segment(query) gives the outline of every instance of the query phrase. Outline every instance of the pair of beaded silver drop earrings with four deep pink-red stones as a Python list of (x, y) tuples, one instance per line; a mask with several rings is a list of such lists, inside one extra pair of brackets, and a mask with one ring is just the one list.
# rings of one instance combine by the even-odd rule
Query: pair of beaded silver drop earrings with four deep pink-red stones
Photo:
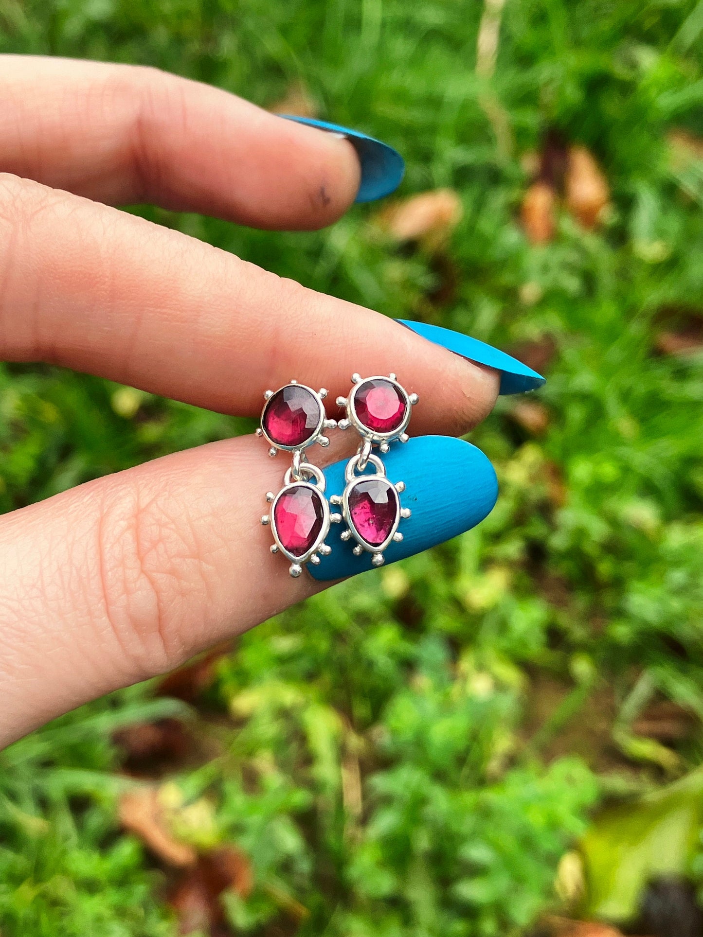
[[(408, 441), (405, 431), (417, 394), (408, 394), (395, 374), (366, 379), (353, 374), (350, 394), (337, 397), (337, 407), (346, 410), (345, 418), (338, 423), (327, 419), (323, 403), (326, 396), (324, 389), (316, 392), (296, 380), (276, 392), (263, 394), (266, 402), (257, 435), (268, 442), (269, 455), (279, 450), (291, 453), (292, 465), (283, 476), (278, 494), (267, 492), (271, 509), (263, 515), (262, 524), (271, 526), (271, 552), (280, 552), (290, 560), (292, 576), (299, 576), (305, 563), (317, 565), (321, 557), (332, 552), (324, 541), (331, 525), (342, 520), (347, 528), (341, 539), (356, 541), (354, 555), (360, 557), (366, 551), (372, 554), (373, 565), (381, 566), (389, 543), (403, 539), (397, 529), (401, 519), (410, 517), (410, 510), (401, 507), (398, 497), (405, 484), (388, 481), (385, 466), (373, 447), (378, 446), (379, 452), (386, 454), (392, 442)], [(335, 427), (355, 429), (361, 442), (345, 469), (344, 491), (328, 501), (322, 470), (307, 461), (306, 450), (316, 442), (328, 446), (330, 440), (324, 434)], [(372, 474), (366, 474), (369, 465)], [(331, 507), (341, 508), (341, 513)]]

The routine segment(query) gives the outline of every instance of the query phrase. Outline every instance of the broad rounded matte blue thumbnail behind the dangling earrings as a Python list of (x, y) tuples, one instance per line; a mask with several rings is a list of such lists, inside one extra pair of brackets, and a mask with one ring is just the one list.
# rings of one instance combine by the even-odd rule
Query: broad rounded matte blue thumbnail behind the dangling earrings
[[(383, 554), (385, 562), (422, 553), (430, 546), (450, 540), (479, 524), (498, 498), (498, 480), (493, 466), (480, 449), (452, 436), (418, 436), (405, 444), (394, 444), (383, 456), (386, 477), (394, 484), (405, 483), (400, 505), (411, 515), (400, 521), (403, 539), (391, 543)], [(341, 495), (347, 460), (324, 469), (325, 494)], [(337, 509), (333, 509), (337, 510)], [(319, 566), (307, 566), (315, 579), (343, 579), (373, 568), (371, 554), (355, 557), (353, 539), (341, 540), (344, 523), (333, 524), (327, 536), (332, 547)]]

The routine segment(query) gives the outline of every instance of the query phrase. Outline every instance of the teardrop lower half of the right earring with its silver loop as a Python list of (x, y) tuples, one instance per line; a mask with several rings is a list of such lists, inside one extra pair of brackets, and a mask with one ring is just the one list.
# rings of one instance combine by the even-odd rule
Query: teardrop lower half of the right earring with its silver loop
[(374, 566), (382, 566), (383, 550), (389, 543), (399, 543), (403, 539), (398, 530), (401, 518), (410, 517), (409, 508), (400, 507), (398, 497), (405, 491), (405, 483), (388, 481), (385, 466), (378, 455), (370, 454), (366, 462), (374, 469), (371, 475), (356, 475), (360, 470), (361, 454), (357, 453), (347, 463), (344, 472), (346, 487), (342, 495), (333, 495), (330, 504), (340, 504), (347, 528), (342, 531), (341, 539), (356, 541), (353, 548), (355, 557), (366, 552), (372, 554)]

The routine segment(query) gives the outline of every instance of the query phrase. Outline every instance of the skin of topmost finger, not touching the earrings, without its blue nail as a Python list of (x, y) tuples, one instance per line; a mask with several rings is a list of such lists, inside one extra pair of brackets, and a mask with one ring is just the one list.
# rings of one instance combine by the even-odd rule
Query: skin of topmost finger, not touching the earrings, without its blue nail
[(155, 68), (0, 56), (0, 168), (111, 204), (153, 201), (258, 228), (337, 219), (352, 145)]

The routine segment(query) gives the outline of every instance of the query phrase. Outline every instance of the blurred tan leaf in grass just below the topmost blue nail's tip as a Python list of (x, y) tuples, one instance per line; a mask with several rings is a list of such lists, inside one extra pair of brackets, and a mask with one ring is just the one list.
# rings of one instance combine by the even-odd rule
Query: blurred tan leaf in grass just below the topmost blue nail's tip
[(381, 227), (397, 241), (426, 241), (438, 245), (456, 228), (463, 209), (456, 192), (437, 188), (413, 195), (386, 208), (379, 217)]

